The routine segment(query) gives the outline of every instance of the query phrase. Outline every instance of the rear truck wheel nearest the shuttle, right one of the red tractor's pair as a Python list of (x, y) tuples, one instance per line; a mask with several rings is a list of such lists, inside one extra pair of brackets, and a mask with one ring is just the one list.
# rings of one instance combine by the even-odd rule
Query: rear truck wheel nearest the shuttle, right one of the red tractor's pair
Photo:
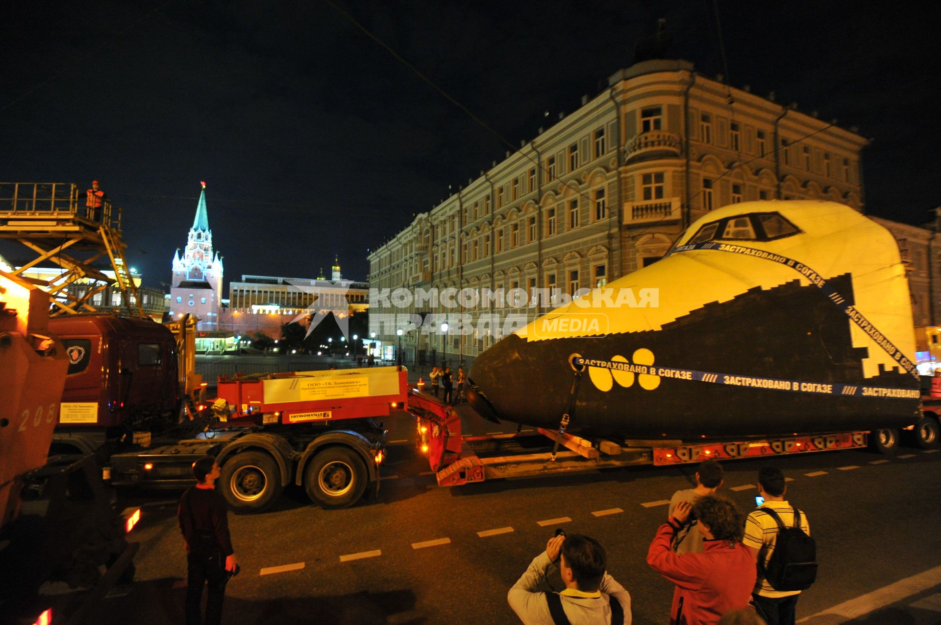
[(327, 447), (307, 465), (304, 489), (321, 508), (352, 506), (366, 490), (366, 466), (353, 449)]

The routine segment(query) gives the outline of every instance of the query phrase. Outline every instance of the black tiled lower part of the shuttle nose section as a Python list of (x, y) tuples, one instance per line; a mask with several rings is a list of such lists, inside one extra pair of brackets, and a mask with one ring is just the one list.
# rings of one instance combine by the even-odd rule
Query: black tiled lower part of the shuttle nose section
[[(830, 282), (852, 300), (849, 275)], [(623, 308), (610, 314), (637, 313)], [(862, 359), (868, 350), (853, 348), (846, 314), (821, 289), (794, 280), (704, 305), (662, 330), (539, 341), (509, 336), (478, 357), (470, 371), (471, 383), (489, 404), (476, 398), (478, 411), (483, 414), (492, 407), (502, 419), (557, 427), (574, 376), (568, 363), (571, 354), (601, 361), (623, 356), (630, 361), (640, 349), (652, 352), (655, 370), (673, 367), (720, 377), (917, 389), (917, 380), (898, 368), (880, 367), (877, 376), (864, 378)], [(652, 390), (634, 376), (628, 386), (615, 382), (603, 391), (585, 372), (569, 430), (670, 438), (869, 430), (911, 425), (917, 411), (917, 398), (790, 392), (665, 376)]]

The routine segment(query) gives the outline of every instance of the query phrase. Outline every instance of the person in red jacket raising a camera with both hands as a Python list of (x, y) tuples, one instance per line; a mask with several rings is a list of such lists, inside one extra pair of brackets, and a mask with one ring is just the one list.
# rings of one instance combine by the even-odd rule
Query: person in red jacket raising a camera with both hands
[[(703, 535), (703, 552), (675, 554), (670, 545), (691, 511)], [(742, 545), (742, 514), (731, 501), (714, 494), (695, 506), (678, 504), (650, 543), (647, 564), (677, 586), (670, 625), (718, 623), (729, 610), (748, 605), (758, 576), (754, 558)]]

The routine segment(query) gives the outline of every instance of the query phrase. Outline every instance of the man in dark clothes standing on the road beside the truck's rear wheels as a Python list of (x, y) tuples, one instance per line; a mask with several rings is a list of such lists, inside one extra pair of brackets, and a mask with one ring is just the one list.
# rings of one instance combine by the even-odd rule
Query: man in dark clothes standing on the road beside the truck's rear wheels
[(222, 495), (215, 492), (219, 465), (205, 456), (193, 462), (196, 486), (183, 492), (177, 517), (186, 541), (186, 625), (199, 625), (202, 586), (209, 586), (206, 625), (222, 622), (222, 600), (231, 574), (238, 572), (232, 550), (229, 519)]

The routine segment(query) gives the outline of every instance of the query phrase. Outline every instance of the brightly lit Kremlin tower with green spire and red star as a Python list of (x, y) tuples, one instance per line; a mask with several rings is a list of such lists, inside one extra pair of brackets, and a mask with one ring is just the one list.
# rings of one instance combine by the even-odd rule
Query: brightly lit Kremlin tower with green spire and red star
[(189, 313), (199, 318), (200, 331), (217, 329), (222, 296), (222, 260), (213, 252), (213, 231), (209, 229), (206, 209), (206, 184), (202, 183), (193, 227), (189, 229), (183, 257), (173, 255), (170, 288), (170, 315), (179, 318)]

